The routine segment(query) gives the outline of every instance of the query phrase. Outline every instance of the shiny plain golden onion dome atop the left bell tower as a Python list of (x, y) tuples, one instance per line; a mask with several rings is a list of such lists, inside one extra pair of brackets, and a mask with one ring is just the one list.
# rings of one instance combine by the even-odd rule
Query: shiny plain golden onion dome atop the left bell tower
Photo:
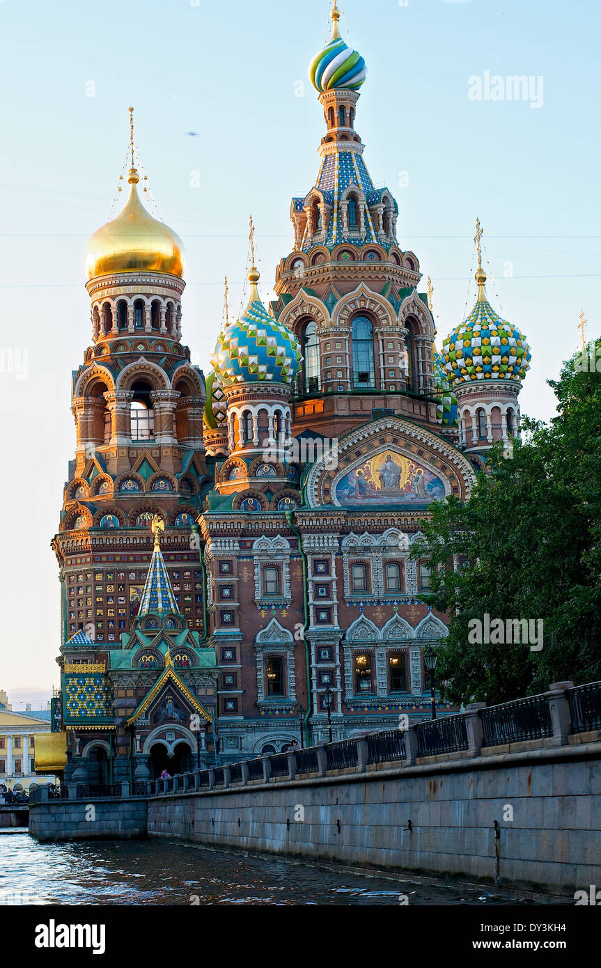
[(178, 235), (153, 219), (137, 195), (139, 177), (130, 168), (130, 197), (116, 219), (94, 232), (88, 242), (88, 279), (114, 272), (165, 272), (184, 275), (184, 246)]

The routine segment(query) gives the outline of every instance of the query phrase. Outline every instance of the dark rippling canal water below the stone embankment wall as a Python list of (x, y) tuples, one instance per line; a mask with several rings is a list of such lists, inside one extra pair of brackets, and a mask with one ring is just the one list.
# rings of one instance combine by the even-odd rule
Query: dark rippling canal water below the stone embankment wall
[[(163, 839), (41, 844), (0, 836), (2, 904), (499, 905), (492, 888), (212, 850)], [(532, 903), (525, 897), (526, 903)]]

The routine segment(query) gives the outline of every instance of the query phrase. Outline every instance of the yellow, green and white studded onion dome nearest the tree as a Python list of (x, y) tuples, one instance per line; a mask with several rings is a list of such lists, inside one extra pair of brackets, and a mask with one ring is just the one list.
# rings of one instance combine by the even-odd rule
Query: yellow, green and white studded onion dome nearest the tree
[(457, 387), (476, 379), (519, 382), (530, 366), (526, 336), (495, 312), (484, 290), (486, 273), (476, 272), (478, 298), (464, 322), (442, 344), (444, 370)]

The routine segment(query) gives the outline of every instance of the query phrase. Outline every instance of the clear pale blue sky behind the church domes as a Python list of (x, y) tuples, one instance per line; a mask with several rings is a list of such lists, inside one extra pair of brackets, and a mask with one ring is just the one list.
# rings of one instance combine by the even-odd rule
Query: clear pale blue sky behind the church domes
[[(532, 348), (522, 409), (548, 419), (546, 380), (577, 346), (581, 305), (588, 335), (601, 329), (601, 6), (341, 8), (368, 65), (364, 157), (399, 201), (422, 290), (432, 276), (438, 341), (466, 316), (479, 216), (489, 298)], [(85, 244), (110, 213), (127, 108), (161, 216), (186, 245), (183, 335), (206, 374), (224, 273), (240, 302), (249, 213), (266, 297), (291, 248), (289, 199), (316, 179), (323, 118), (307, 67), (328, 36), (327, 0), (0, 0), (0, 687), (25, 690), (15, 700), (58, 681), (49, 541), (74, 456), (71, 372), (90, 343)], [(531, 77), (529, 100), (471, 100), (470, 78), (487, 72)], [(472, 280), (468, 309), (473, 295)]]

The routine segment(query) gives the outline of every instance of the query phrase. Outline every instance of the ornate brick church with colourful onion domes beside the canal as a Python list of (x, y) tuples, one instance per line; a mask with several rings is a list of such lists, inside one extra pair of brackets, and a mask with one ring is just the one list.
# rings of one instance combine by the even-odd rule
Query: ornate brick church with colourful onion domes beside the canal
[(466, 500), (518, 433), (529, 350), (479, 260), (476, 306), (436, 353), (418, 259), (355, 129), (365, 64), (332, 20), (310, 69), (319, 171), (292, 199), (277, 299), (262, 304), (253, 257), (206, 382), (181, 343), (182, 244), (139, 201), (133, 135), (130, 197), (88, 247), (93, 345), (53, 540), (82, 780), (183, 768), (216, 710), (231, 760), (298, 741), (301, 721), (326, 738), (330, 693), (335, 738), (430, 711), (423, 655), (447, 629), (409, 551), (431, 501)]

